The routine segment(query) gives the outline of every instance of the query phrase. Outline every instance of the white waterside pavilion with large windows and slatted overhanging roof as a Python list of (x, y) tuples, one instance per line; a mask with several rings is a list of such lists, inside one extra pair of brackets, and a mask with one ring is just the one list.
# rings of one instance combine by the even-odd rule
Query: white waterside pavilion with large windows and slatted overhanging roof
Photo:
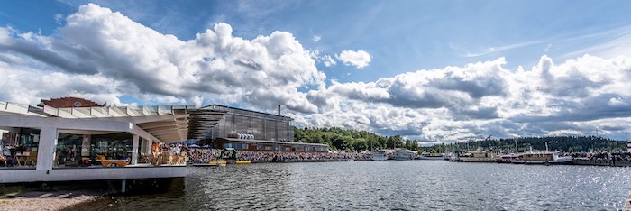
[[(153, 166), (142, 161), (151, 154), (152, 144), (205, 134), (205, 123), (221, 118), (221, 114), (191, 118), (189, 109), (56, 108), (0, 101), (0, 183), (184, 177), (186, 165)], [(119, 160), (129, 165), (104, 166), (104, 161)]]

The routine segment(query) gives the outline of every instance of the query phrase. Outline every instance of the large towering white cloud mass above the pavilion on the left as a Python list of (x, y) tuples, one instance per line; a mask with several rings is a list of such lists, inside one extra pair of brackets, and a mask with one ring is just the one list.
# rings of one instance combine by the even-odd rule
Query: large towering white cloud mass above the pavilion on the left
[[(121, 84), (109, 83), (117, 93), (181, 99), (206, 96), (227, 103), (284, 104), (297, 112), (317, 110), (297, 88), (319, 85), (325, 74), (315, 68), (309, 51), (291, 33), (272, 32), (245, 40), (234, 37), (232, 31), (229, 24), (217, 23), (195, 39), (181, 41), (108, 8), (88, 4), (70, 14), (58, 34), (11, 33), (3, 28), (0, 44), (4, 58), (28, 60), (32, 69), (113, 80)], [(19, 68), (14, 62), (5, 65)], [(65, 88), (52, 96), (74, 90)], [(34, 102), (41, 96), (18, 100)]]

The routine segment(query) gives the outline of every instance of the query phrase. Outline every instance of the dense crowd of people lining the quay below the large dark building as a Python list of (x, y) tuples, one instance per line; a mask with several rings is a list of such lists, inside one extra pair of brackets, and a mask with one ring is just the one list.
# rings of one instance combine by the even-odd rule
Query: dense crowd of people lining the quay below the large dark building
[[(224, 160), (220, 149), (192, 148), (188, 150), (188, 161), (206, 163)], [(366, 161), (370, 155), (361, 153), (288, 152), (288, 151), (236, 151), (236, 160), (251, 162), (304, 162), (304, 161)]]

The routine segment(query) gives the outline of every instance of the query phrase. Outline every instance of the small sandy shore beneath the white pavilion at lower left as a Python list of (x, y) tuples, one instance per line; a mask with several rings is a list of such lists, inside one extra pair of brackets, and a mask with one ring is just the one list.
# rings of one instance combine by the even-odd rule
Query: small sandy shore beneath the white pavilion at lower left
[(105, 193), (88, 190), (50, 192), (29, 191), (0, 199), (0, 211), (5, 210), (59, 210), (68, 206), (95, 200)]

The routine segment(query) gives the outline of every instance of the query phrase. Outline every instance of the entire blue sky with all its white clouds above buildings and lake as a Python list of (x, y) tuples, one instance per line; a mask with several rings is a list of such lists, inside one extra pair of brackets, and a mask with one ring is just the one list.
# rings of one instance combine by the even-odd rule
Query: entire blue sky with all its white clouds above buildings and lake
[(233, 105), (424, 142), (631, 131), (628, 1), (0, 1), (0, 100)]

